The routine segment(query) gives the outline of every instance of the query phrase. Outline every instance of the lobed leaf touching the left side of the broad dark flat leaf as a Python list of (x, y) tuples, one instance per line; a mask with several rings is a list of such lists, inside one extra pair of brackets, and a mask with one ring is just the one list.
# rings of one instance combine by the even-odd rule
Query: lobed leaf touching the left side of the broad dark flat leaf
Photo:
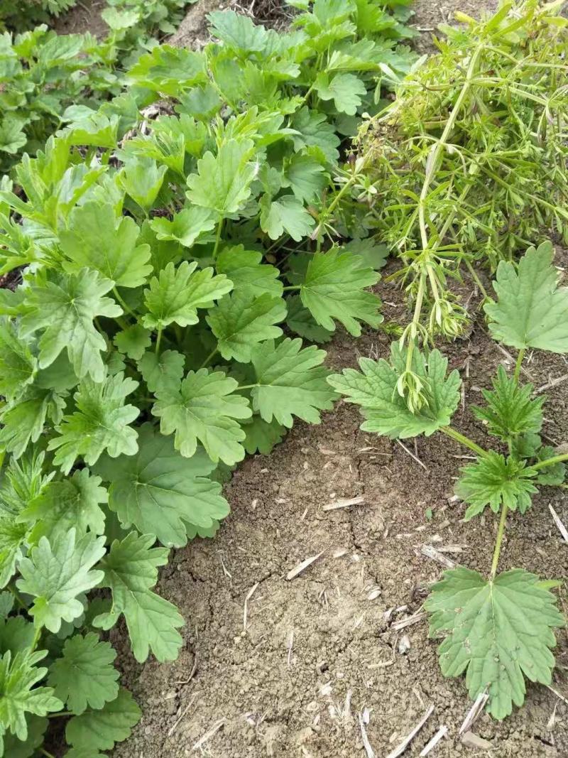
[(88, 530), (104, 534), (105, 513), (101, 504), (108, 502), (108, 493), (100, 484), (101, 478), (89, 475), (88, 468), (46, 484), (20, 513), (20, 521), (31, 526), (28, 541), (36, 543), (40, 537), (47, 537), (54, 544), (71, 528), (76, 530), (77, 537), (83, 537)]

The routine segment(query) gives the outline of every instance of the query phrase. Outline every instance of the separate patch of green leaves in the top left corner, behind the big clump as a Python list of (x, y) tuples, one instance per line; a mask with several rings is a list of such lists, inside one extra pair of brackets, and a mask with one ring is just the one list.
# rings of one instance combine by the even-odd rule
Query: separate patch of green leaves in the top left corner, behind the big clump
[[(11, 3), (13, 6), (14, 4)], [(108, 34), (58, 35), (44, 24), (0, 36), (0, 173), (23, 152), (34, 155), (48, 136), (96, 110), (123, 87), (123, 71), (173, 31), (185, 0), (108, 0)], [(0, 13), (0, 17), (2, 14)], [(27, 26), (30, 20), (27, 21)], [(136, 106), (133, 105), (135, 114)]]

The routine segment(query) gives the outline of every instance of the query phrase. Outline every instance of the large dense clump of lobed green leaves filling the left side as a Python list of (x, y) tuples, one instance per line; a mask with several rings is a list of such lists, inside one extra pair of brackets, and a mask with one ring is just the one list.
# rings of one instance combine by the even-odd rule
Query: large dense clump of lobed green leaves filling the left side
[(69, 756), (128, 735), (101, 634), (123, 618), (137, 660), (176, 657), (168, 550), (214, 535), (245, 453), (331, 409), (301, 338), (382, 320), (385, 249), (326, 236), (347, 124), (413, 59), (405, 15), (317, 0), (278, 34), (211, 14), (203, 51), (142, 55), (4, 183), (0, 271), (22, 283), (0, 290), (0, 755), (33, 755), (61, 711)]

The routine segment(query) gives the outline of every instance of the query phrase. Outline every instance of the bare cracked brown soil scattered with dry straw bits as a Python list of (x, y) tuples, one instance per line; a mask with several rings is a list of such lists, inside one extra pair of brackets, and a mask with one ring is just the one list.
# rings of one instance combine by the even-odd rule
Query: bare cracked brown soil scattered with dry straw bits
[[(173, 42), (203, 42), (204, 11), (218, 5), (200, 0)], [(429, 46), (429, 30), (455, 7), (451, 0), (417, 5), (422, 49)], [(476, 14), (479, 5), (468, 0), (460, 10)], [(559, 262), (568, 265), (566, 255)], [(472, 290), (464, 292), (466, 299)], [(387, 317), (404, 321), (398, 290), (381, 284), (379, 292)], [(475, 303), (474, 295), (473, 310)], [(329, 347), (329, 365), (354, 365), (360, 354), (385, 356), (387, 350), (381, 334), (357, 341), (339, 334)], [(463, 377), (467, 409), (504, 356), (485, 337), (479, 315), (469, 337), (448, 352)], [(568, 371), (563, 359), (543, 356), (534, 356), (528, 368), (536, 387)], [(548, 392), (554, 411), (545, 431), (554, 443), (568, 440), (567, 388), (559, 384)], [(483, 439), (482, 425), (467, 410), (458, 411), (454, 423)], [(442, 678), (426, 622), (401, 631), (395, 625), (420, 609), (442, 568), (420, 548), (449, 546), (453, 552), (445, 555), (486, 571), (494, 519), (463, 525), (463, 506), (451, 499), (466, 451), (441, 437), (421, 439), (416, 449), (409, 447), (419, 463), (397, 443), (363, 434), (359, 424), (357, 409), (340, 404), (320, 427), (298, 424), (269, 458), (257, 456), (239, 468), (226, 487), (232, 513), (218, 536), (176, 551), (161, 576), (161, 594), (187, 620), (178, 661), (139, 666), (120, 630), (114, 632), (125, 684), (145, 714), (115, 758), (200, 751), (214, 758), (364, 756), (359, 713), (368, 713), (366, 731), (376, 756), (386, 756), (430, 705), (435, 711), (407, 755), (418, 755), (446, 725), (448, 738), (429, 753), (436, 758), (568, 756), (568, 709), (541, 687), (530, 687), (526, 707), (506, 722), (479, 719), (474, 731), (490, 750), (460, 743), (457, 729), (470, 708), (463, 680)], [(364, 503), (323, 509), (354, 496)], [(543, 490), (522, 522), (510, 519), (501, 568), (566, 576), (568, 547), (548, 503), (568, 522), (559, 490)], [(299, 562), (319, 553), (298, 578), (286, 581)], [(566, 609), (565, 596), (561, 602)], [(565, 631), (557, 637), (554, 688), (566, 695), (568, 640)]]

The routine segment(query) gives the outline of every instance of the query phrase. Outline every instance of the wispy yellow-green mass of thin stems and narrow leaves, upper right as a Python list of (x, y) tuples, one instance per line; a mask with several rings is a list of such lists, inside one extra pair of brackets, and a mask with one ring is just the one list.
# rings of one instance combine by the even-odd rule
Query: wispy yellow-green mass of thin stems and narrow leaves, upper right
[(426, 338), (463, 330), (447, 281), (460, 267), (495, 271), (551, 230), (568, 241), (562, 5), (506, 2), (481, 21), (456, 14), (463, 25), (441, 27), (438, 55), (361, 133), (373, 186), (364, 223), (400, 256)]

